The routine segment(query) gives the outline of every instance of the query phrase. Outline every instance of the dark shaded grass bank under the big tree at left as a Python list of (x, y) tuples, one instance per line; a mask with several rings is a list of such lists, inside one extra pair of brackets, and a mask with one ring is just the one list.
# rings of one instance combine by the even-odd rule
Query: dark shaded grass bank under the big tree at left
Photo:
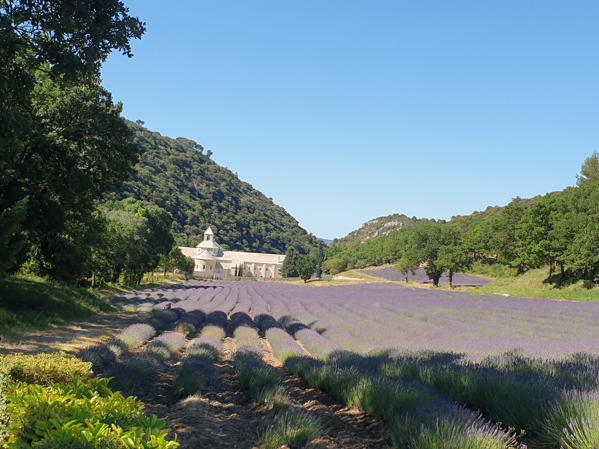
[(98, 290), (27, 275), (0, 281), (0, 333), (44, 329), (113, 310)]

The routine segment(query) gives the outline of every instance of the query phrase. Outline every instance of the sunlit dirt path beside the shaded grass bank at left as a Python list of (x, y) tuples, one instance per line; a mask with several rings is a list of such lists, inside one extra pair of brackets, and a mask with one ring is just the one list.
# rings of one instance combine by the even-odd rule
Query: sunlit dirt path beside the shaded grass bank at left
[(140, 312), (102, 314), (67, 326), (0, 336), (0, 354), (38, 354), (54, 351), (76, 354), (84, 347), (110, 338), (123, 327), (146, 317), (147, 313)]

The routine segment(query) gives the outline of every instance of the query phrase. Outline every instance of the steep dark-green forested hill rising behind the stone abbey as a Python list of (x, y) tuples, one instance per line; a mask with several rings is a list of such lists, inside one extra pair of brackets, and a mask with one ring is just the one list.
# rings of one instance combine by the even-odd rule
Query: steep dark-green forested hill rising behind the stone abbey
[(107, 199), (134, 197), (173, 214), (180, 245), (195, 246), (208, 226), (230, 250), (284, 254), (288, 245), (309, 250), (315, 238), (297, 220), (196, 142), (172, 139), (129, 122), (144, 151), (137, 173)]

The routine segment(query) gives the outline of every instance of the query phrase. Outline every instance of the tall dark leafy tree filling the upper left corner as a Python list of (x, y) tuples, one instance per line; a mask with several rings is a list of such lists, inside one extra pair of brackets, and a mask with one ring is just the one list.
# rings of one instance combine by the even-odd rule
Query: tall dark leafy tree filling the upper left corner
[(99, 85), (108, 54), (132, 56), (129, 41), (145, 31), (128, 13), (115, 0), (0, 0), (0, 244), (10, 257), (0, 274), (29, 259), (39, 274), (77, 278), (95, 199), (138, 160), (121, 105)]

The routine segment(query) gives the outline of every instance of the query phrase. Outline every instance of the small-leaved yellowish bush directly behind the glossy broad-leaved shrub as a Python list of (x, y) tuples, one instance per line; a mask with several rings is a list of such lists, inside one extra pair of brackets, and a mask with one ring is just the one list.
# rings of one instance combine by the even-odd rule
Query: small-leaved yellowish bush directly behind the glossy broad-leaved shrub
[(52, 354), (9, 354), (0, 356), (0, 373), (13, 382), (49, 385), (67, 383), (73, 377), (92, 375), (92, 363), (75, 356), (57, 352)]

